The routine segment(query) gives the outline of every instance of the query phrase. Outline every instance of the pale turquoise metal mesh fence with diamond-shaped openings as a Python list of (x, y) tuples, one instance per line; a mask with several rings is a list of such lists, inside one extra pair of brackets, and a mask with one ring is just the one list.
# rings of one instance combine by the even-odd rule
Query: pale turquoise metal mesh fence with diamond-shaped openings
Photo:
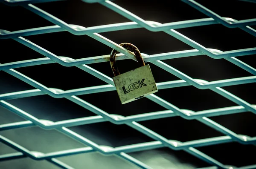
[[(64, 21), (58, 19), (57, 17), (54, 17), (53, 15), (47, 13), (46, 11), (43, 11), (42, 9), (39, 9), (38, 7), (31, 4), (31, 3), (42, 3), (47, 1), (56, 1), (56, 0), (38, 0), (38, 1), (2, 0), (2, 3), (5, 3), (6, 5), (23, 6), (29, 11), (32, 11), (35, 14), (38, 14), (39, 16), (43, 17), (44, 19), (54, 23), (55, 26), (46, 26), (41, 28), (26, 29), (26, 30), (20, 30), (15, 32), (0, 30), (0, 39), (12, 38), (13, 40), (16, 40), (17, 42), (22, 43), (23, 45), (28, 46), (29, 48), (45, 56), (39, 59), (23, 60), (18, 62), (0, 64), (0, 70), (11, 74), (12, 76), (17, 77), (20, 80), (23, 80), (24, 82), (36, 88), (32, 90), (12, 92), (12, 93), (6, 93), (6, 94), (0, 95), (1, 106), (3, 106), (4, 108), (14, 112), (15, 114), (27, 120), (27, 121), (21, 121), (17, 123), (1, 124), (0, 131), (23, 128), (28, 126), (40, 126), (43, 129), (56, 129), (57, 131), (63, 133), (64, 135), (68, 135), (88, 147), (44, 154), (41, 152), (29, 151), (25, 147), (20, 146), (17, 143), (13, 142), (12, 140), (9, 140), (8, 138), (0, 135), (0, 141), (2, 143), (18, 151), (17, 153), (0, 155), (1, 161), (29, 157), (34, 160), (47, 160), (50, 163), (53, 163), (64, 169), (73, 169), (72, 166), (68, 166), (67, 164), (61, 162), (60, 160), (57, 160), (56, 158), (68, 156), (68, 155), (75, 155), (80, 153), (89, 153), (89, 152), (97, 151), (105, 155), (119, 156), (139, 166), (140, 168), (151, 169), (150, 166), (147, 166), (146, 164), (131, 157), (126, 153), (138, 152), (138, 151), (143, 151), (148, 149), (157, 149), (160, 147), (168, 147), (174, 150), (183, 150), (185, 152), (188, 152), (189, 154), (194, 155), (197, 158), (200, 158), (201, 160), (204, 160), (205, 162), (212, 165), (212, 167), (207, 167), (209, 169), (237, 168), (236, 166), (227, 166), (225, 164), (220, 163), (219, 161), (209, 157), (203, 152), (198, 151), (196, 147), (209, 146), (209, 145), (228, 143), (228, 142), (238, 142), (241, 144), (256, 143), (256, 137), (250, 137), (247, 135), (238, 135), (208, 118), (208, 117), (213, 117), (218, 115), (227, 115), (227, 114), (234, 114), (234, 113), (241, 113), (241, 112), (253, 112), (254, 114), (256, 114), (256, 105), (247, 103), (241, 98), (221, 88), (223, 86), (233, 86), (238, 84), (256, 82), (256, 76), (255, 76), (256, 69), (247, 65), (246, 63), (243, 63), (241, 60), (236, 58), (236, 56), (256, 54), (256, 48), (239, 49), (239, 50), (232, 50), (232, 51), (226, 51), (226, 52), (222, 52), (217, 49), (207, 49), (206, 47), (202, 46), (199, 43), (196, 43), (192, 39), (189, 39), (188, 37), (184, 36), (183, 34), (180, 34), (174, 29), (188, 28), (193, 26), (205, 26), (205, 25), (212, 25), (212, 24), (222, 24), (228, 28), (240, 28), (245, 32), (248, 32), (252, 36), (256, 36), (256, 30), (250, 27), (251, 25), (256, 25), (256, 19), (238, 21), (232, 18), (221, 17), (218, 14), (215, 14), (213, 11), (210, 11), (209, 9), (195, 2), (194, 0), (182, 0), (184, 3), (187, 3), (191, 7), (197, 9), (198, 11), (201, 11), (202, 13), (207, 15), (209, 18), (161, 24), (153, 21), (145, 21), (142, 18), (136, 16), (135, 14), (132, 14), (131, 12), (116, 5), (115, 3), (109, 0), (105, 0), (105, 1), (83, 0), (86, 3), (100, 3), (102, 6), (105, 6), (132, 21), (128, 23), (116, 23), (116, 24), (110, 24), (110, 25), (93, 26), (93, 27), (85, 28), (82, 26), (70, 25), (68, 23), (65, 23)], [(159, 66), (165, 71), (171, 74), (174, 74), (175, 76), (181, 79), (181, 80), (157, 83), (158, 89), (168, 89), (168, 88), (175, 88), (179, 86), (192, 85), (198, 89), (210, 89), (218, 93), (219, 95), (233, 101), (238, 106), (193, 112), (192, 110), (179, 109), (178, 107), (172, 105), (166, 100), (163, 100), (162, 98), (152, 94), (147, 96), (147, 98), (159, 104), (160, 106), (163, 106), (164, 108), (168, 109), (167, 111), (151, 112), (151, 113), (145, 113), (141, 115), (133, 115), (133, 116), (127, 116), (127, 117), (123, 117), (120, 115), (111, 115), (105, 112), (104, 110), (101, 110), (96, 106), (93, 106), (92, 104), (87, 103), (86, 101), (80, 99), (79, 97), (76, 97), (77, 95), (86, 95), (91, 93), (116, 90), (111, 77), (108, 77), (105, 74), (98, 72), (97, 70), (91, 68), (90, 66), (87, 66), (87, 64), (89, 63), (108, 62), (109, 55), (82, 58), (82, 59), (76, 59), (76, 60), (70, 57), (59, 57), (47, 51), (46, 49), (42, 48), (41, 46), (38, 46), (35, 43), (32, 43), (31, 41), (26, 40), (25, 38), (22, 37), (22, 36), (29, 36), (29, 35), (35, 35), (35, 34), (45, 34), (50, 32), (63, 32), (63, 31), (70, 32), (74, 35), (86, 34), (87, 36), (90, 36), (93, 39), (96, 39), (99, 42), (119, 51), (121, 54), (119, 55), (119, 57), (117, 57), (117, 60), (130, 59), (130, 58), (133, 60), (136, 60), (134, 55), (131, 52), (129, 52), (127, 49), (124, 49), (122, 46), (119, 46), (113, 41), (98, 34), (100, 32), (111, 32), (111, 31), (135, 29), (135, 28), (145, 28), (152, 32), (163, 31), (166, 34), (169, 34), (177, 38), (178, 40), (181, 40), (182, 42), (188, 44), (189, 46), (192, 46), (193, 48), (195, 48), (193, 50), (169, 52), (169, 53), (162, 53), (162, 54), (153, 54), (153, 55), (142, 54), (145, 62), (153, 63), (154, 65)], [(253, 76), (208, 82), (202, 79), (193, 79), (192, 77), (189, 77), (188, 75), (178, 71), (177, 69), (174, 69), (172, 66), (169, 66), (168, 64), (161, 61), (161, 60), (172, 59), (172, 58), (198, 56), (198, 55), (207, 55), (214, 59), (224, 58), (225, 60), (228, 60), (229, 62), (235, 64), (236, 66), (239, 66), (242, 69), (246, 70), (247, 72), (250, 72), (251, 74), (253, 74)], [(59, 63), (62, 66), (76, 66), (79, 69), (82, 69), (85, 72), (88, 72), (93, 76), (107, 82), (108, 85), (93, 86), (93, 87), (63, 91), (61, 89), (48, 88), (47, 86), (44, 86), (43, 84), (38, 83), (37, 81), (27, 77), (26, 75), (21, 74), (20, 72), (17, 72), (16, 70), (14, 70), (15, 68), (20, 68), (25, 66), (36, 66), (36, 65), (49, 64), (49, 63)], [(39, 120), (38, 118), (30, 115), (28, 112), (24, 112), (18, 107), (15, 107), (12, 104), (5, 101), (5, 100), (12, 100), (12, 99), (23, 98), (23, 97), (38, 96), (38, 95), (50, 95), (55, 98), (67, 98), (68, 100), (95, 113), (96, 116), (57, 121), (57, 122), (53, 122), (49, 120)], [(150, 129), (138, 123), (139, 121), (144, 121), (144, 120), (158, 119), (158, 118), (164, 118), (164, 117), (174, 117), (174, 116), (180, 116), (187, 120), (196, 119), (201, 123), (204, 123), (205, 125), (210, 126), (211, 128), (223, 133), (226, 136), (180, 142), (178, 140), (168, 140), (165, 137), (157, 134), (156, 132), (151, 131)], [(115, 148), (108, 147), (108, 146), (99, 146), (93, 141), (88, 140), (86, 137), (83, 137), (77, 134), (76, 132), (73, 132), (72, 130), (66, 128), (70, 126), (79, 126), (79, 125), (99, 123), (104, 121), (109, 121), (114, 124), (126, 124), (138, 130), (139, 132), (143, 133), (144, 135), (147, 135), (153, 138), (155, 141), (148, 142), (148, 143), (138, 143), (138, 144), (133, 144), (128, 146), (115, 147)], [(254, 169), (256, 168), (256, 164), (251, 166), (243, 166), (239, 168)]]

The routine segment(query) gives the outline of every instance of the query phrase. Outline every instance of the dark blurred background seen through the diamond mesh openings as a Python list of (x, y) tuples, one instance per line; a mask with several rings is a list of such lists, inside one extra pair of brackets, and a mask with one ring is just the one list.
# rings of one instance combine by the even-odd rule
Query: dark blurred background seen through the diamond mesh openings
[[(238, 0), (198, 0), (197, 2), (222, 17), (231, 17), (236, 20), (256, 18), (256, 3), (248, 3)], [(144, 20), (151, 20), (159, 23), (208, 18), (206, 15), (179, 0), (116, 0), (114, 3), (124, 7)], [(55, 17), (58, 17), (69, 24), (76, 24), (84, 27), (130, 21), (98, 3), (88, 4), (79, 0), (70, 0), (35, 4), (35, 6), (53, 14)], [(53, 25), (22, 7), (9, 7), (1, 3), (0, 16), (0, 29), (8, 31)], [(256, 26), (252, 27), (256, 29)], [(207, 48), (219, 49), (221, 51), (256, 47), (255, 37), (252, 35), (239, 28), (229, 29), (221, 24), (177, 29), (177, 31)], [(100, 34), (116, 43), (132, 43), (138, 47), (140, 52), (149, 55), (192, 49), (192, 47), (164, 32), (150, 32), (143, 28)], [(33, 35), (26, 38), (53, 54), (72, 57), (73, 59), (100, 56), (111, 52), (110, 47), (105, 46), (87, 35), (75, 36), (68, 32), (58, 32)], [(44, 57), (12, 39), (0, 40), (0, 46), (0, 63)], [(254, 57), (255, 55), (248, 55), (237, 58), (250, 66), (256, 67)], [(193, 78), (208, 81), (252, 76), (252, 74), (235, 66), (227, 60), (215, 60), (207, 56), (177, 58), (164, 60), (164, 62)], [(160, 69), (151, 63), (149, 64), (157, 83), (179, 79), (163, 69)], [(113, 77), (108, 62), (90, 64), (89, 66), (109, 77)], [(133, 60), (122, 60), (118, 61), (118, 66), (120, 72), (127, 72), (130, 69), (136, 68), (137, 63)], [(58, 63), (30, 66), (15, 70), (31, 77), (47, 87), (62, 90), (105, 84), (102, 80), (97, 79), (81, 69), (76, 67), (64, 67)], [(0, 71), (0, 94), (28, 89), (34, 88), (25, 82), (12, 77), (6, 72)], [(256, 90), (254, 83), (228, 86), (224, 87), (224, 89), (248, 103), (255, 103)], [(235, 103), (209, 89), (200, 90), (193, 86), (164, 89), (157, 92), (156, 95), (180, 109), (190, 109), (193, 111), (236, 106)], [(163, 107), (146, 98), (122, 105), (116, 91), (81, 95), (79, 97), (110, 114), (123, 116), (165, 110)], [(8, 102), (39, 119), (52, 121), (94, 115), (92, 112), (65, 98), (56, 99), (48, 95), (8, 100)], [(115, 103), (115, 106), (110, 106), (113, 102)], [(251, 112), (210, 117), (210, 119), (215, 120), (217, 123), (231, 129), (237, 134), (249, 135), (251, 137), (256, 136), (254, 125), (256, 116)], [(21, 117), (18, 117), (4, 108), (0, 108), (1, 124), (21, 120), (23, 120)], [(148, 120), (140, 122), (140, 124), (168, 139), (179, 141), (189, 141), (223, 135), (197, 120), (185, 120), (181, 117)], [(126, 125), (116, 126), (109, 122), (76, 126), (71, 127), (70, 129), (100, 145), (113, 147), (152, 141), (151, 138)], [(29, 150), (44, 153), (83, 146), (81, 143), (55, 132), (55, 130), (44, 131), (37, 127), (4, 131), (1, 132), (1, 135), (8, 137)], [(224, 164), (233, 166), (255, 164), (255, 157), (250, 155), (250, 153), (256, 151), (256, 147), (253, 145), (226, 143), (201, 147), (198, 149)], [(0, 143), (0, 154), (10, 152), (15, 152), (15, 150)], [(186, 152), (173, 151), (167, 148), (131, 153), (130, 155), (147, 163), (155, 169), (209, 166), (207, 163)], [(60, 158), (60, 160), (78, 169), (136, 168), (122, 160), (97, 153), (68, 156)], [(87, 165), (85, 166), (84, 163)], [(122, 167), (120, 165), (122, 165)], [(0, 163), (0, 169), (13, 169), (16, 167), (19, 167), (20, 169), (58, 168), (45, 161), (39, 162), (28, 158)]]

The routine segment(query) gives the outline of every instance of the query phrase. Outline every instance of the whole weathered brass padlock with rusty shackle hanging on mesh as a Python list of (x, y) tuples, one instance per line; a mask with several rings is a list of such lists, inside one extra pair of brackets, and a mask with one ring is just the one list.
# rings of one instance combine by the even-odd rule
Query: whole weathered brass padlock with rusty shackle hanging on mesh
[(139, 68), (120, 74), (115, 61), (118, 51), (113, 49), (110, 54), (110, 64), (114, 74), (113, 81), (121, 103), (129, 103), (157, 92), (157, 85), (150, 66), (145, 65), (139, 49), (131, 43), (121, 43), (119, 45), (134, 52), (139, 63)]

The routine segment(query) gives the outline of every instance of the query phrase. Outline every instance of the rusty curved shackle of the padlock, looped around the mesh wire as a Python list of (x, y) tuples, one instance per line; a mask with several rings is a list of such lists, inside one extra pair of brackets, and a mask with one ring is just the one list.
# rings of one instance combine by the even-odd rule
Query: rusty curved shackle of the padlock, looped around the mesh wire
[[(134, 46), (131, 43), (121, 43), (119, 45), (124, 47), (125, 49), (128, 49), (131, 52), (134, 52), (134, 54), (135, 54), (135, 56), (137, 58), (137, 61), (139, 63), (139, 67), (145, 66), (145, 63), (144, 63), (144, 60), (143, 60), (143, 58), (142, 58), (142, 56), (140, 54), (140, 51), (139, 51), (139, 49), (136, 46)], [(116, 66), (116, 54), (117, 54), (117, 52), (118, 52), (117, 50), (113, 49), (111, 51), (110, 59), (109, 59), (114, 76), (118, 76), (120, 74), (119, 70), (118, 70), (118, 68)]]

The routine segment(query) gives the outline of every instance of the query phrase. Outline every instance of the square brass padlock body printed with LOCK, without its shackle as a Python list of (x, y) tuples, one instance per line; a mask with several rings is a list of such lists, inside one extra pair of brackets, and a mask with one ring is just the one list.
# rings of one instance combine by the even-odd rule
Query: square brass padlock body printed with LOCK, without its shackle
[(149, 65), (115, 76), (113, 81), (122, 104), (158, 91)]

